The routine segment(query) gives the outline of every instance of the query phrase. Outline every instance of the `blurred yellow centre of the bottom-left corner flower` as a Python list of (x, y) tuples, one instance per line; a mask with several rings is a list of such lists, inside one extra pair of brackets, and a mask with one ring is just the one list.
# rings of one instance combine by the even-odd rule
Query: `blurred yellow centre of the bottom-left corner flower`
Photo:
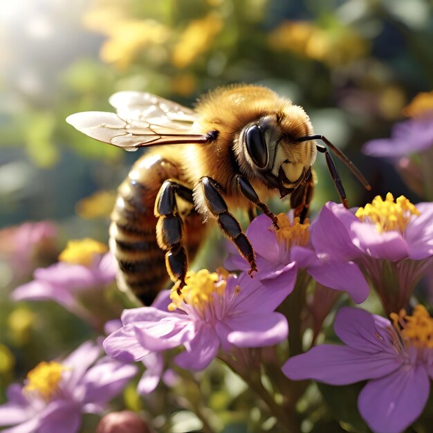
[(59, 382), (62, 379), (64, 367), (59, 362), (40, 362), (33, 370), (27, 374), (26, 391), (37, 391), (42, 398), (50, 398), (59, 389)]

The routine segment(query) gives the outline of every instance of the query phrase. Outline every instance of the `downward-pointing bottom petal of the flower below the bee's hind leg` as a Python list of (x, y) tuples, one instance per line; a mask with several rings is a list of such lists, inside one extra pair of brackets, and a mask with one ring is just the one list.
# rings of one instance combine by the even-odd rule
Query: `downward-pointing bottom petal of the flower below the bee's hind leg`
[(203, 370), (216, 357), (219, 346), (215, 330), (203, 324), (189, 344), (185, 344), (186, 350), (174, 358), (174, 362), (183, 369)]

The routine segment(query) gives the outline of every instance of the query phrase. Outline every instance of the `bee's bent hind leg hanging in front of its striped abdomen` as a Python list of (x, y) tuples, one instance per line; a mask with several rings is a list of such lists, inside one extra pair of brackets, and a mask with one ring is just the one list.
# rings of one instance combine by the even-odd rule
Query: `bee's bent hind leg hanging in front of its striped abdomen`
[(159, 248), (165, 251), (165, 266), (169, 277), (174, 282), (174, 290), (181, 294), (185, 286), (188, 258), (183, 246), (183, 221), (178, 213), (176, 196), (194, 203), (190, 188), (167, 179), (156, 196), (154, 214), (158, 218), (156, 241)]

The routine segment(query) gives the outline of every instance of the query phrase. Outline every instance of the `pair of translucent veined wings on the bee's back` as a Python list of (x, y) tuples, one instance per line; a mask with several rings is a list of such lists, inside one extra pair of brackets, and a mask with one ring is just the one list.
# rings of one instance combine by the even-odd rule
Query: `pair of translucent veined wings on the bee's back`
[(151, 93), (118, 92), (110, 104), (117, 114), (104, 111), (75, 113), (66, 122), (86, 136), (125, 150), (181, 143), (205, 143), (208, 134), (192, 132), (194, 111)]

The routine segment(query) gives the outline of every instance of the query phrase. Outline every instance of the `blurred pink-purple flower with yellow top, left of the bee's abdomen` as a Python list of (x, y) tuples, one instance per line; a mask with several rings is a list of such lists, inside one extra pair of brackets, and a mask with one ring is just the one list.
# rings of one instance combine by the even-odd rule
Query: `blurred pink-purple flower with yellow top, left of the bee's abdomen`
[[(95, 250), (95, 247), (98, 249)], [(103, 300), (102, 291), (115, 282), (118, 270), (111, 252), (102, 254), (107, 250), (106, 246), (103, 247), (104, 249), (102, 244), (93, 245), (89, 250), (89, 239), (86, 239), (80, 246), (73, 246), (73, 252), (71, 247), (66, 248), (66, 257), (64, 253), (63, 257), (60, 255), (63, 261), (35, 270), (35, 279), (15, 288), (12, 299), (53, 300), (84, 320), (95, 322), (92, 306), (98, 306), (100, 311), (100, 304), (107, 304)], [(109, 308), (112, 309), (112, 306), (107, 306), (106, 311), (112, 313)], [(107, 320), (107, 317), (104, 319)]]

